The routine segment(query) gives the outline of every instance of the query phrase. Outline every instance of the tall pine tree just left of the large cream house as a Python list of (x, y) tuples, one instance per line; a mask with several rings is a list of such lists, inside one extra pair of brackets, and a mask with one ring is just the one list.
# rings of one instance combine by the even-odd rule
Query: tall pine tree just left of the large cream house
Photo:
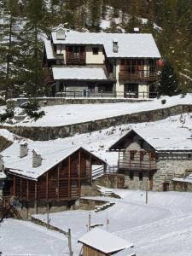
[(23, 63), (25, 71), (25, 90), (32, 96), (38, 96), (44, 85), (44, 73), (41, 67), (43, 42), (39, 35), (44, 32), (45, 5), (43, 0), (28, 0), (27, 21), (22, 32)]

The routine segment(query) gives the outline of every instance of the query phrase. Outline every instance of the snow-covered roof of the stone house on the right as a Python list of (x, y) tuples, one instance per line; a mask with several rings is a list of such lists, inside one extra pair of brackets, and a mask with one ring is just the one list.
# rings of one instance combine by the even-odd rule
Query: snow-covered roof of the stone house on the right
[(129, 137), (132, 131), (135, 131), (137, 135), (142, 137), (156, 151), (192, 151), (191, 132), (187, 128), (158, 124), (138, 127), (128, 131), (110, 149), (115, 148), (125, 137)]

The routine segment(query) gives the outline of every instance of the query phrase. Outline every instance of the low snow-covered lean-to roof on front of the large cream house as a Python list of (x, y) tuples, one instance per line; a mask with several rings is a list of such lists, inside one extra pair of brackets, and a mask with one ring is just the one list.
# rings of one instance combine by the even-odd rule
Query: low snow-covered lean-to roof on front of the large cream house
[(108, 80), (102, 67), (53, 67), (55, 80)]

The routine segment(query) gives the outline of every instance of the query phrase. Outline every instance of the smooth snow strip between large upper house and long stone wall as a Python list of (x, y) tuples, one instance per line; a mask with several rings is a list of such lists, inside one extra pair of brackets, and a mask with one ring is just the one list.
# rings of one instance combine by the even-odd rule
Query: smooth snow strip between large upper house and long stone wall
[[(24, 119), (20, 122), (15, 122), (15, 125), (23, 126), (60, 126), (82, 123), (96, 119), (106, 119), (122, 114), (138, 113), (147, 110), (169, 108), (177, 104), (192, 104), (192, 94), (185, 97), (182, 96), (165, 96), (166, 104), (162, 104), (161, 100), (152, 102), (134, 102), (134, 103), (105, 103), (105, 104), (72, 104), (72, 105), (57, 105), (42, 108), (45, 112), (43, 118), (34, 121), (33, 119)], [(4, 107), (0, 108), (0, 113)], [(16, 108), (18, 114), (23, 109)], [(9, 124), (4, 124), (9, 125)]]

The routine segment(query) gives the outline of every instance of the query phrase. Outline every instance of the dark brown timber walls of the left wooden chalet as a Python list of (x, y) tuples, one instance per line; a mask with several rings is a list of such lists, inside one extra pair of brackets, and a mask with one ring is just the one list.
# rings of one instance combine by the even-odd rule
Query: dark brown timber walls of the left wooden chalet
[(84, 150), (79, 150), (45, 172), (38, 181), (14, 176), (14, 195), (25, 201), (75, 200), (81, 183), (91, 182), (91, 165), (101, 164)]

